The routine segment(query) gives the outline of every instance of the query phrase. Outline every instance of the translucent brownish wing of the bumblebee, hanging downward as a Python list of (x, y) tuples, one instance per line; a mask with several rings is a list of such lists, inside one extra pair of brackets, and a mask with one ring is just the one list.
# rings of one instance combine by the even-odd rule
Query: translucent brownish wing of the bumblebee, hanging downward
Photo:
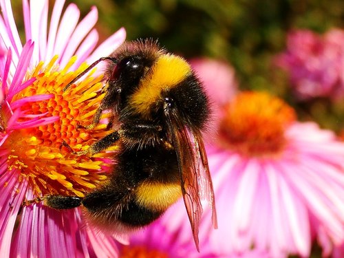
[(186, 128), (180, 121), (177, 110), (165, 109), (165, 115), (169, 127), (169, 137), (177, 153), (182, 194), (193, 231), (193, 239), (197, 250), (200, 251), (198, 233), (203, 213), (202, 200), (207, 200), (211, 206), (213, 226), (217, 228), (213, 183), (206, 151), (201, 133)]

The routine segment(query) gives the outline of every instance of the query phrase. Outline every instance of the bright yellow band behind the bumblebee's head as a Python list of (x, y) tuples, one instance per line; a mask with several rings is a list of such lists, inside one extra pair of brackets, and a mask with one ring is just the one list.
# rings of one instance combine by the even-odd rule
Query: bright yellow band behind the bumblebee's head
[(160, 100), (161, 93), (175, 87), (191, 73), (191, 67), (182, 57), (163, 54), (158, 58), (131, 96), (130, 104), (144, 118), (148, 118), (151, 106)]

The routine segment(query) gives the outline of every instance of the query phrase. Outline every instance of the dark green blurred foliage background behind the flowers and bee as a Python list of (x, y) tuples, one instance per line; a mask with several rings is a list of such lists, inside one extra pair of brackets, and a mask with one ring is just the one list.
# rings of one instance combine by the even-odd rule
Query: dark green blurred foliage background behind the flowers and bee
[[(91, 6), (98, 8), (100, 42), (125, 27), (128, 40), (151, 37), (186, 58), (208, 56), (227, 61), (235, 69), (239, 89), (268, 90), (297, 109), (299, 120), (315, 120), (321, 127), (343, 134), (343, 101), (312, 98), (296, 102), (290, 94), (288, 74), (274, 65), (275, 56), (286, 50), (291, 30), (323, 34), (331, 28), (342, 28), (342, 0), (66, 2), (77, 3), (83, 16)], [(21, 1), (14, 0), (12, 5), (21, 13)]]

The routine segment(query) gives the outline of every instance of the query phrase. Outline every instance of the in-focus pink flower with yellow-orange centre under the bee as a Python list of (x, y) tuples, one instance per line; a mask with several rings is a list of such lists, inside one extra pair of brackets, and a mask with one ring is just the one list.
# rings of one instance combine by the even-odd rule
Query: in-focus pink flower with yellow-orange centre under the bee
[[(25, 44), (10, 1), (0, 17), (0, 252), (2, 257), (116, 257), (116, 241), (94, 233), (79, 209), (58, 212), (41, 203), (47, 194), (83, 196), (107, 178), (111, 153), (75, 157), (63, 147), (87, 149), (105, 136), (106, 125), (77, 129), (92, 121), (103, 87), (93, 70), (66, 92), (63, 87), (87, 63), (106, 56), (125, 39), (120, 29), (96, 49), (97, 10), (80, 12), (56, 1), (48, 25), (48, 1), (23, 1)], [(47, 28), (49, 27), (49, 33)], [(73, 56), (73, 55), (76, 56)]]

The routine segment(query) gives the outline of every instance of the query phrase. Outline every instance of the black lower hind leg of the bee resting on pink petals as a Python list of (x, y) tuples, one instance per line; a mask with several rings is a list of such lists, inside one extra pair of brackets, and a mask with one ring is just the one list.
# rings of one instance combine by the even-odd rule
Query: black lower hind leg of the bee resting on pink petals
[(80, 206), (83, 198), (78, 196), (46, 195), (42, 200), (45, 206), (55, 208), (56, 210), (67, 210)]

